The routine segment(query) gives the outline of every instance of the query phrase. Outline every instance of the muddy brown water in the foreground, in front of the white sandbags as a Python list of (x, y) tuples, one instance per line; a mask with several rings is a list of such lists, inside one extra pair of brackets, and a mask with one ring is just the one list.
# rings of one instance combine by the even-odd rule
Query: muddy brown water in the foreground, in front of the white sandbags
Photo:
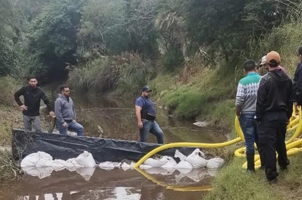
[[(198, 173), (198, 172), (195, 172)], [(210, 176), (205, 176), (197, 183), (180, 175), (178, 170), (172, 174), (153, 174), (153, 179), (162, 183), (177, 186), (203, 186), (210, 183)], [(182, 176), (180, 183), (175, 183), (175, 178)], [(190, 176), (193, 176), (191, 174)], [(21, 183), (16, 188), (16, 196), (10, 195), (5, 199), (18, 200), (82, 200), (82, 199), (120, 199), (120, 200), (153, 200), (153, 199), (201, 199), (204, 192), (180, 192), (167, 189), (144, 177), (136, 170), (102, 170), (95, 169), (90, 180), (86, 181), (76, 172), (63, 170), (53, 172), (50, 177), (39, 179), (24, 175)]]

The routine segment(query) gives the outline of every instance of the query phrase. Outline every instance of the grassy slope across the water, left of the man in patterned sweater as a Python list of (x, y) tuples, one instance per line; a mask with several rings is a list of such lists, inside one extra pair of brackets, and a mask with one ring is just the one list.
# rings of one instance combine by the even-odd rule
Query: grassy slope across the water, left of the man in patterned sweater
[(194, 71), (194, 76), (185, 83), (177, 81), (178, 77), (157, 76), (150, 83), (156, 102), (177, 117), (201, 120), (206, 117), (212, 125), (229, 131), (234, 119), (234, 72), (222, 67)]

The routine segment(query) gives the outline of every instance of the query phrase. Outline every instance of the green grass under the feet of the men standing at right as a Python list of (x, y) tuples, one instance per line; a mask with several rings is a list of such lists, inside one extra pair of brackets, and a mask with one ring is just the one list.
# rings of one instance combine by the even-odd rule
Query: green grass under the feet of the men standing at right
[[(213, 181), (214, 189), (203, 200), (210, 199), (301, 199), (302, 154), (289, 158), (287, 171), (280, 171), (278, 183), (268, 184), (263, 170), (246, 173), (245, 158), (233, 158), (220, 170)], [(277, 167), (278, 169), (278, 167)]]

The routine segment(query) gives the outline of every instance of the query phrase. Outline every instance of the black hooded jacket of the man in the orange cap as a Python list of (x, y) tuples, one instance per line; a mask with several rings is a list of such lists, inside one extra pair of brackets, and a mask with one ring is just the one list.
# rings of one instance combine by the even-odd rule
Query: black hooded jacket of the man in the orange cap
[(265, 113), (285, 111), (288, 119), (293, 112), (293, 83), (286, 73), (277, 69), (265, 74), (259, 83), (256, 117), (262, 120)]

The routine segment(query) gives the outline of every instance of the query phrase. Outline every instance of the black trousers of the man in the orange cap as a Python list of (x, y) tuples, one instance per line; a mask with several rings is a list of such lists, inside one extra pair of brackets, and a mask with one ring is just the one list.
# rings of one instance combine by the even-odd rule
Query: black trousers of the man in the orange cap
[(277, 176), (276, 151), (279, 166), (287, 166), (286, 121), (285, 112), (270, 112), (264, 114), (262, 121), (259, 123), (259, 144), (261, 145), (261, 154), (265, 161), (265, 175), (268, 180), (272, 180)]

